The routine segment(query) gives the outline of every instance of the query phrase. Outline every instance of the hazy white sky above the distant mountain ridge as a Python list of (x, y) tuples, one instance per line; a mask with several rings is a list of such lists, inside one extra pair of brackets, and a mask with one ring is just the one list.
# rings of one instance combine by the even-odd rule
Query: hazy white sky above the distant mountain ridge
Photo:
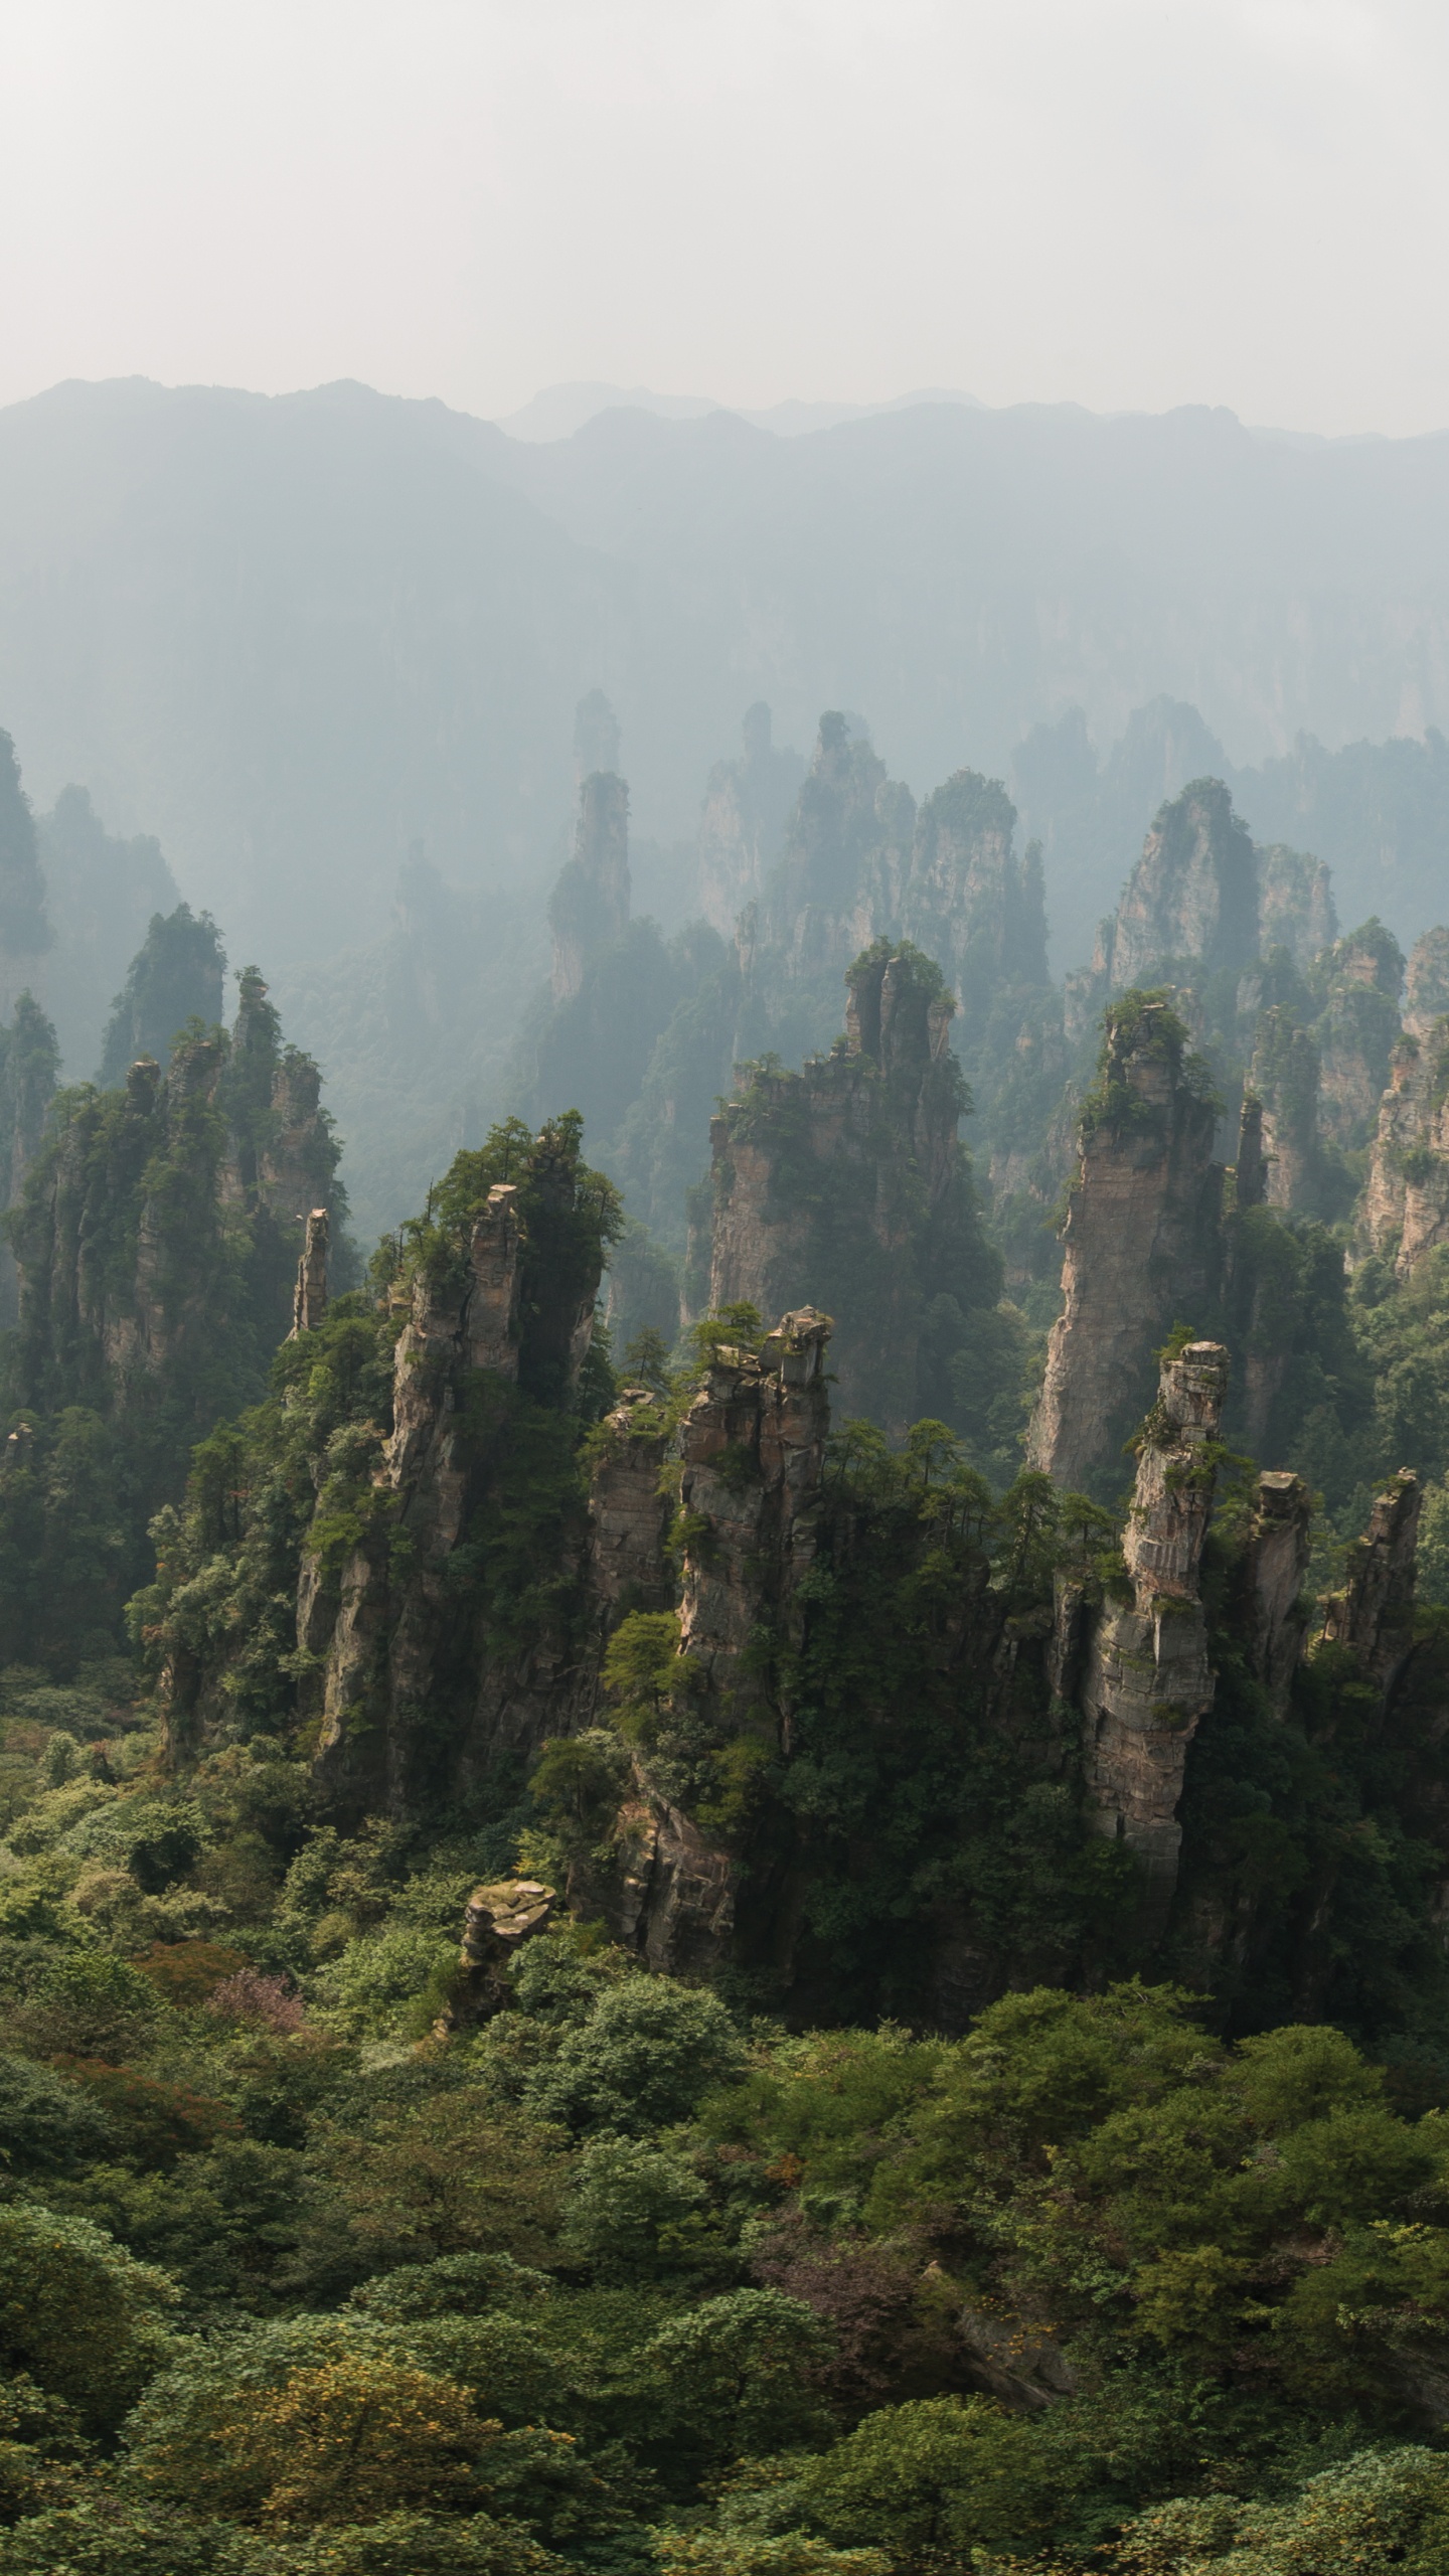
[(1449, 425), (1444, 0), (0, 0), (0, 402)]

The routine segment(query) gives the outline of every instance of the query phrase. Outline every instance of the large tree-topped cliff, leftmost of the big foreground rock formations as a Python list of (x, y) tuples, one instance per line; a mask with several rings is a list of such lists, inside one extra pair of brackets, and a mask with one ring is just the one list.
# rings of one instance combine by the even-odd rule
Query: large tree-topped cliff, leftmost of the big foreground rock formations
[[(356, 1543), (338, 1561), (325, 1515), (322, 1543), (302, 1556), (297, 1649), (338, 1814), (415, 1814), (588, 1723), (588, 1533), (567, 1458), (601, 1278), (601, 1182), (565, 1123), (516, 1144), (513, 1167), (521, 1180), (469, 1193), (397, 1275), (392, 1425), (371, 1435), (366, 1476), (343, 1461), (361, 1479)], [(521, 1625), (469, 1548), (511, 1512), (529, 1525), (531, 1510), (547, 1535), (531, 1540), (539, 1607)], [(608, 1602), (634, 1579), (639, 1548), (621, 1533), (619, 1494), (601, 1515)]]

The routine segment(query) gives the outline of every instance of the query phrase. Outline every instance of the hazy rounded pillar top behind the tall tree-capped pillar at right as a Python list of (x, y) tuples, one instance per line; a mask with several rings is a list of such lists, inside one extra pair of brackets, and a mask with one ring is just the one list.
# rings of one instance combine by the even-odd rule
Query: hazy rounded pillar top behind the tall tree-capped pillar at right
[(1150, 984), (1171, 958), (1207, 974), (1240, 971), (1258, 953), (1258, 871), (1245, 824), (1220, 778), (1199, 778), (1165, 804), (1142, 842), (1101, 966), (1111, 987)]

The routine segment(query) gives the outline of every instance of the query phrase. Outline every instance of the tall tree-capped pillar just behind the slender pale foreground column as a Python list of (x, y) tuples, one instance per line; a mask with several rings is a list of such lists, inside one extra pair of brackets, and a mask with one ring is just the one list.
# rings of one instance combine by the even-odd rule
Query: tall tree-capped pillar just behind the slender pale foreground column
[(1140, 999), (1109, 1010), (1067, 1208), (1065, 1306), (1029, 1443), (1060, 1486), (1116, 1486), (1122, 1440), (1150, 1394), (1147, 1352), (1217, 1298), (1214, 1123), (1173, 1012)]

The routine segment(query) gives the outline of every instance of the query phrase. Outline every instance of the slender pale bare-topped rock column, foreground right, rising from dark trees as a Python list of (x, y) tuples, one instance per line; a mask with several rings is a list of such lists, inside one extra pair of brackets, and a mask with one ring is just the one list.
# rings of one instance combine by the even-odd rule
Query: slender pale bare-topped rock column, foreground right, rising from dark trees
[(1220, 1342), (1189, 1342), (1163, 1363), (1122, 1540), (1132, 1600), (1104, 1605), (1085, 1654), (1088, 1806), (1098, 1832), (1145, 1862), (1147, 1929), (1160, 1929), (1173, 1896), (1186, 1752), (1214, 1692), (1199, 1564), (1225, 1394)]

